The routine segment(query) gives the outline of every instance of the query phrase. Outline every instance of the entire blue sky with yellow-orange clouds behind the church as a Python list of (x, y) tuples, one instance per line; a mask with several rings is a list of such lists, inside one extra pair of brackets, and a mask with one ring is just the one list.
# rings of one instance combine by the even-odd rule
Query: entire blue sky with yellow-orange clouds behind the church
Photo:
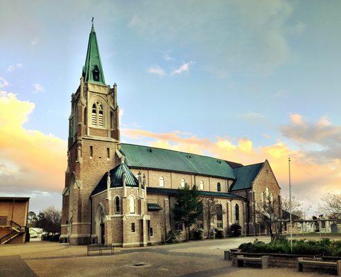
[(94, 17), (121, 139), (243, 164), (317, 213), (341, 193), (341, 1), (1, 1), (0, 195), (62, 206)]

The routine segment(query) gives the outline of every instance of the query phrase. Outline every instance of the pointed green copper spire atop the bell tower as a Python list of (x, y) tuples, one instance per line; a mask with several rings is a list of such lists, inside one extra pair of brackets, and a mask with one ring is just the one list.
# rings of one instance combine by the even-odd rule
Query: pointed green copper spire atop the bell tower
[(93, 24), (89, 35), (88, 51), (86, 51), (85, 65), (83, 66), (83, 77), (85, 82), (105, 84), (100, 50), (98, 48), (97, 37)]

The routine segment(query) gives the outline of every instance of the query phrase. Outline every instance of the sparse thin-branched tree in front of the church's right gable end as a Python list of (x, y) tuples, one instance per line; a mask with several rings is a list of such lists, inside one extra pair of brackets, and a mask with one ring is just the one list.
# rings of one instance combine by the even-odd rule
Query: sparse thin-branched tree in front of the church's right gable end
[(282, 219), (282, 211), (279, 202), (270, 195), (267, 195), (264, 197), (264, 201), (260, 204), (257, 203), (255, 215), (266, 225), (266, 228), (270, 233), (271, 241), (278, 240), (281, 227), (279, 221)]

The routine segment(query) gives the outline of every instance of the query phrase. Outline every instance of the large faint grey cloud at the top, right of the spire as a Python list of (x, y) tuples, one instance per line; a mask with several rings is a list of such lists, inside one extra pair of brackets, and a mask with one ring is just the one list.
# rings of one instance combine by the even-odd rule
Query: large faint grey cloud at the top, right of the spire
[(136, 6), (128, 26), (146, 39), (185, 48), (212, 73), (266, 75), (293, 56), (289, 39), (304, 24), (292, 14), (285, 0), (147, 1)]

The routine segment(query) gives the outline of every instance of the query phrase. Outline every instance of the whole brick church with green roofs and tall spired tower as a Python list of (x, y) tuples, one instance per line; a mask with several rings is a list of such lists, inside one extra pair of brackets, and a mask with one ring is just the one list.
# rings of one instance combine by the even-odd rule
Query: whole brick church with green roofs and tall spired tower
[[(199, 188), (219, 206), (209, 224), (205, 213), (192, 228), (241, 226), (242, 235), (264, 233), (255, 207), (264, 195), (278, 199), (280, 187), (268, 161), (243, 166), (214, 157), (120, 142), (118, 87), (104, 80), (92, 25), (80, 85), (71, 95), (68, 166), (62, 192), (60, 242), (147, 246), (181, 231), (172, 207), (178, 188)], [(205, 201), (203, 201), (205, 203)], [(204, 209), (205, 210), (205, 209)]]

